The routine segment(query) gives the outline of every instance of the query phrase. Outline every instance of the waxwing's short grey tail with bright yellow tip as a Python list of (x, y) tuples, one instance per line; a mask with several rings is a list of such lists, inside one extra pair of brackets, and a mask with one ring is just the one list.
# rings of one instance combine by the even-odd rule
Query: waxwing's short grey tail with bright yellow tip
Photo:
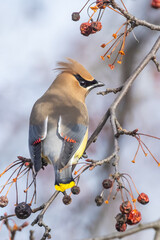
[(72, 166), (67, 166), (60, 170), (55, 167), (55, 189), (64, 192), (73, 186), (75, 186), (75, 182), (72, 177)]

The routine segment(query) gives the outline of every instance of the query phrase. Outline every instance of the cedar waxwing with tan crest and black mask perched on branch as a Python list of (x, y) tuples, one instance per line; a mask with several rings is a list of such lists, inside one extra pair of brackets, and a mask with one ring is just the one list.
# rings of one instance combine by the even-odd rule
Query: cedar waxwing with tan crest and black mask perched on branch
[(88, 139), (88, 111), (85, 97), (104, 86), (78, 62), (59, 62), (60, 74), (33, 106), (29, 126), (29, 150), (37, 173), (52, 163), (55, 189), (75, 185), (72, 171), (82, 157)]

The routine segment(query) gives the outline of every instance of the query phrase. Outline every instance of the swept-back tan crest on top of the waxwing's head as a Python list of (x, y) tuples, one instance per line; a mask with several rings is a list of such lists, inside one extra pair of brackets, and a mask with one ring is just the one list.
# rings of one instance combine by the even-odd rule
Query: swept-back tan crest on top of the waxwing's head
[(68, 62), (58, 62), (59, 67), (56, 70), (61, 72), (69, 72), (73, 75), (79, 74), (82, 78), (88, 81), (92, 81), (94, 78), (92, 75), (77, 61), (67, 58)]

